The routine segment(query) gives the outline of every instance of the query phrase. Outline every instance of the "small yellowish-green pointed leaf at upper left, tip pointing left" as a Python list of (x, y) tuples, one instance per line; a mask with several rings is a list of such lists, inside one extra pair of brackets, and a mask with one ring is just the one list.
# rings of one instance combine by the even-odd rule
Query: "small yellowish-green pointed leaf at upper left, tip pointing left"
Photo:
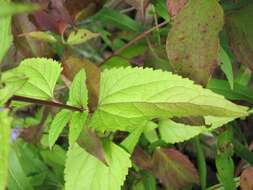
[(29, 36), (43, 42), (50, 42), (50, 43), (57, 42), (57, 39), (52, 34), (48, 32), (42, 32), (42, 31), (29, 32), (29, 33), (21, 34), (20, 36)]

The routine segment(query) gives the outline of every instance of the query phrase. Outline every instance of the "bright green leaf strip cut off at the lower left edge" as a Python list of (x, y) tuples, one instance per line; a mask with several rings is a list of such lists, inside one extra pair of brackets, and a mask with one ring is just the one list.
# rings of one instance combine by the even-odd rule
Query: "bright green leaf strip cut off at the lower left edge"
[(11, 122), (8, 111), (0, 110), (0, 190), (4, 190), (7, 185)]

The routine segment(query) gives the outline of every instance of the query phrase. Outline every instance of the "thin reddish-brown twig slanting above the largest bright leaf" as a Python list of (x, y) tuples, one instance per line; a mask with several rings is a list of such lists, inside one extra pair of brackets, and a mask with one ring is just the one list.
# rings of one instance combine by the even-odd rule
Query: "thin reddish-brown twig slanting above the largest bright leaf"
[(128, 47), (130, 47), (131, 45), (135, 44), (136, 42), (138, 42), (139, 40), (141, 40), (142, 38), (144, 38), (145, 36), (147, 36), (148, 34), (150, 34), (151, 32), (153, 32), (154, 30), (157, 30), (157, 28), (161, 28), (162, 26), (168, 24), (169, 21), (164, 21), (146, 31), (144, 31), (143, 33), (137, 35), (134, 39), (132, 39), (130, 42), (128, 42), (126, 45), (124, 45), (122, 48), (118, 49), (117, 51), (113, 52), (109, 57), (107, 57), (102, 63), (99, 64), (99, 66), (102, 66), (103, 64), (106, 63), (106, 61), (108, 61), (109, 59), (111, 59), (114, 56), (119, 55), (122, 51), (124, 51), (125, 49), (127, 49)]

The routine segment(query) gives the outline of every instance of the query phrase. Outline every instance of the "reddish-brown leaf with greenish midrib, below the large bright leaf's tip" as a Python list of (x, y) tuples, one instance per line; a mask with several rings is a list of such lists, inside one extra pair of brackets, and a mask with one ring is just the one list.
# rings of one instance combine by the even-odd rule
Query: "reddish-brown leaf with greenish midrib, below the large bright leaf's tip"
[(198, 172), (194, 165), (176, 149), (155, 150), (152, 171), (167, 188), (182, 189), (193, 183), (199, 183)]

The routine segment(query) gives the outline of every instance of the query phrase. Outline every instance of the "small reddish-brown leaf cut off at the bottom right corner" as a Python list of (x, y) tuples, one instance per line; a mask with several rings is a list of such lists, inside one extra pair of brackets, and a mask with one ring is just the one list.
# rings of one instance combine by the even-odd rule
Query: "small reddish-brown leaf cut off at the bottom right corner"
[(253, 189), (253, 167), (249, 167), (243, 170), (240, 176), (240, 187), (241, 190), (252, 190)]

